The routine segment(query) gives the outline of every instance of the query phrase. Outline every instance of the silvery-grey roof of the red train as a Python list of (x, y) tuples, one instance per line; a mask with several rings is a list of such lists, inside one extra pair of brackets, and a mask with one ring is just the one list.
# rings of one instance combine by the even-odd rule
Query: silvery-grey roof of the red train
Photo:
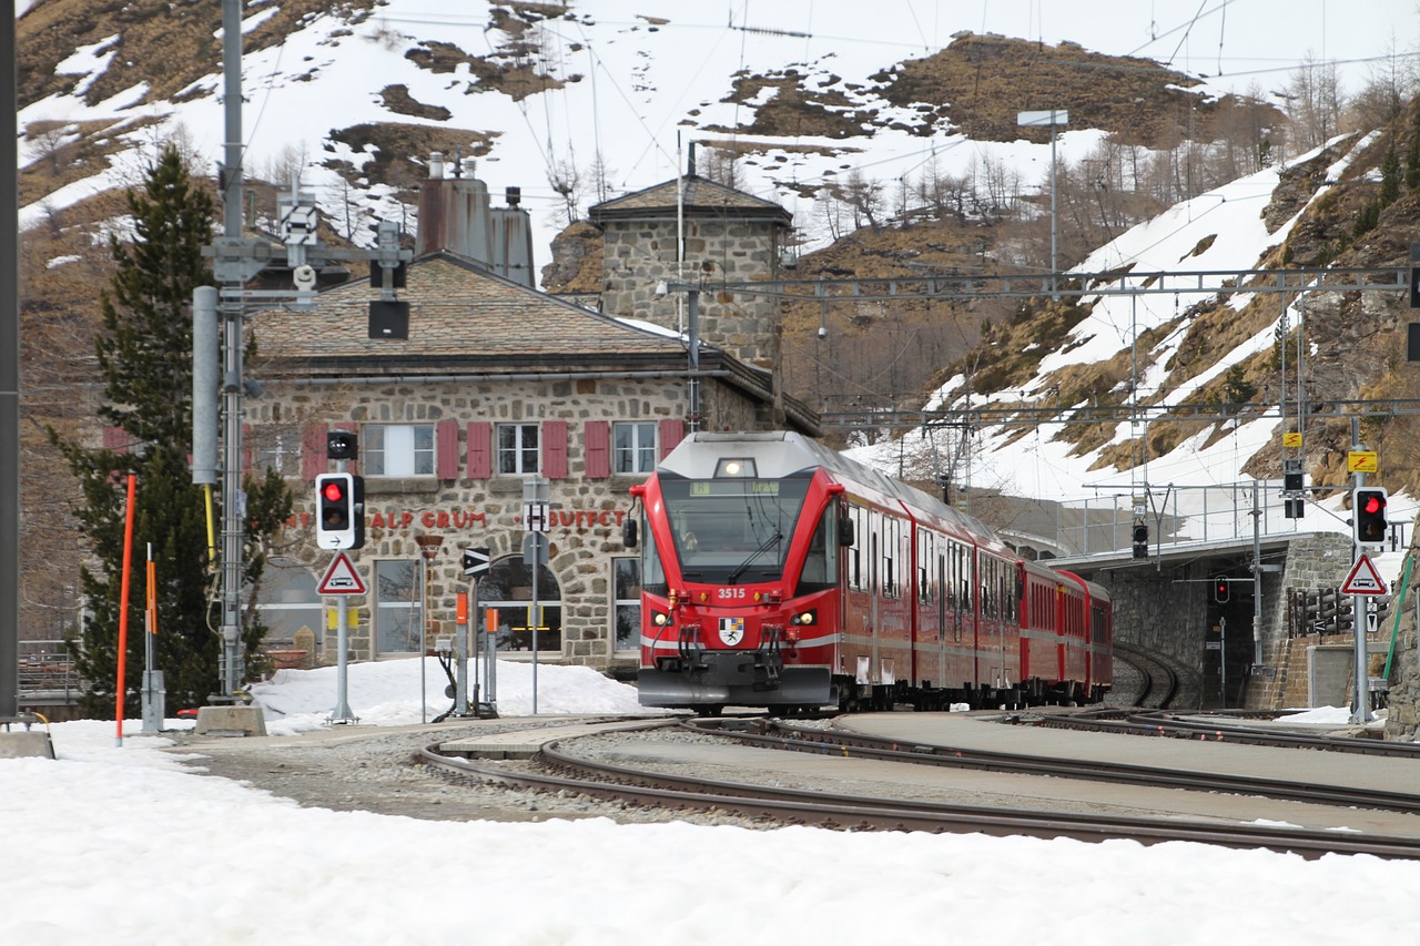
[(727, 453), (754, 459), (761, 479), (792, 476), (801, 470), (824, 467), (836, 479), (873, 489), (896, 499), (910, 510), (926, 513), (980, 537), (1001, 543), (994, 531), (974, 516), (947, 506), (944, 501), (892, 479), (882, 470), (859, 463), (794, 430), (696, 430), (660, 462), (662, 470), (684, 477), (711, 476), (716, 462)]

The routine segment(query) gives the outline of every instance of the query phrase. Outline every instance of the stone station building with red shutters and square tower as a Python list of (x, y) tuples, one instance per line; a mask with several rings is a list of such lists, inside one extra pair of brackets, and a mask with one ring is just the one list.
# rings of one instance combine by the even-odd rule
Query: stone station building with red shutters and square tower
[[(430, 168), (442, 173), (437, 162)], [(487, 243), (450, 233), (454, 222), (481, 226), (481, 183), (426, 190), (457, 202), (457, 213), (439, 214), (440, 241)], [(684, 307), (657, 297), (656, 284), (684, 271), (707, 287), (771, 277), (790, 220), (777, 205), (710, 182), (693, 180), (699, 200), (689, 205), (679, 190), (673, 180), (594, 209), (608, 229), (606, 286), (616, 290), (608, 312), (528, 287), (513, 271), (528, 268), (521, 264), (420, 244), (398, 290), (409, 304), (408, 338), (371, 337), (376, 291), (364, 278), (322, 291), (312, 311), (248, 320), (260, 352), (250, 375), (264, 389), (246, 399), (248, 459), (284, 473), (297, 496), (258, 594), (270, 645), (285, 660), (337, 659), (334, 599), (317, 594), (334, 553), (315, 547), (312, 483), (337, 469), (325, 437), (339, 428), (358, 433), (359, 456), (346, 469), (365, 483), (366, 541), (348, 553), (368, 588), (349, 598), (352, 659), (412, 656), (452, 638), (457, 595), (473, 591), (462, 550), (488, 548), (477, 599), (498, 609), (500, 658), (531, 658), (537, 628), (540, 660), (633, 670), (639, 560), (622, 547), (621, 526), (633, 513), (628, 489), (696, 423), (818, 433), (816, 416), (780, 389), (775, 307), (741, 308), (707, 288), (692, 391), (677, 331)], [(517, 217), (498, 212), (500, 232), (517, 233)], [(677, 213), (684, 267), (674, 253)], [(521, 260), (521, 249), (511, 259)], [(731, 325), (727, 351), (720, 337)], [(523, 555), (524, 483), (534, 477), (551, 499), (537, 611)], [(433, 547), (425, 575), (420, 545)], [(477, 615), (473, 624), (481, 626)]]

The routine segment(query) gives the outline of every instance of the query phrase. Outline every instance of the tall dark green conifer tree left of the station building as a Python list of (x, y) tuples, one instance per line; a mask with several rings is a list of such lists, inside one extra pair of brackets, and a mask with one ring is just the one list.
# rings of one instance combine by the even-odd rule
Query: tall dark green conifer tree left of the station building
[[(126, 474), (138, 476), (129, 578), (125, 714), (139, 712), (145, 658), (145, 561), (152, 548), (158, 575), (155, 669), (163, 670), (168, 709), (197, 706), (219, 690), (222, 651), (213, 607), (214, 575), (207, 560), (204, 496), (187, 466), (192, 440), (192, 291), (212, 283), (202, 257), (212, 240), (213, 199), (195, 186), (182, 155), (163, 149), (141, 192), (128, 192), (133, 239), (109, 237), (115, 273), (101, 295), (102, 331), (95, 339), (104, 382), (98, 416), (122, 429), (126, 443), (85, 449), (55, 430), (80, 480), (75, 509), (88, 540), (80, 567), (87, 621), (68, 641), (85, 680), (81, 705), (106, 714), (115, 707), (118, 626), (124, 564)], [(250, 477), (248, 551), (244, 578), (260, 580), (264, 540), (291, 513), (291, 493), (280, 476)], [(220, 511), (214, 511), (220, 521)], [(260, 523), (258, 527), (253, 527)], [(248, 658), (264, 629), (244, 621)], [(250, 663), (250, 660), (248, 660)]]

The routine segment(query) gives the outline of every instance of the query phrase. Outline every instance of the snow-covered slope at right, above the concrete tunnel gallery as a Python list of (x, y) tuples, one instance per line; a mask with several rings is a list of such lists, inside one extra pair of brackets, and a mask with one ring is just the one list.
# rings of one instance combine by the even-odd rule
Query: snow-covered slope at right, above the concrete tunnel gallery
[[(1326, 200), (1336, 182), (1346, 175), (1352, 161), (1373, 142), (1372, 135), (1342, 136), (1331, 142), (1326, 158), (1335, 156), (1326, 166), (1323, 183), (1312, 192), (1309, 200), (1298, 206), (1288, 219), (1268, 226), (1264, 209), (1277, 193), (1288, 169), (1314, 163), (1322, 151), (1298, 156), (1278, 168), (1238, 179), (1227, 186), (1207, 192), (1184, 202), (1169, 212), (1140, 223), (1116, 240), (1099, 247), (1072, 270), (1075, 274), (1123, 273), (1112, 283), (1113, 288), (1129, 286), (1147, 287), (1149, 273), (1228, 273), (1264, 268), (1275, 251), (1287, 243), (1294, 227), (1305, 216), (1306, 207)], [(1140, 276), (1130, 277), (1129, 273)], [(1207, 280), (1177, 280), (1179, 293), (1163, 294), (1110, 294), (1081, 297), (1081, 305), (1089, 314), (1068, 334), (1065, 341), (1039, 359), (1037, 375), (1010, 391), (990, 393), (970, 392), (970, 379), (956, 375), (939, 388), (927, 401), (927, 409), (963, 411), (968, 406), (1041, 406), (1064, 409), (1088, 408), (1089, 402), (1061, 402), (1059, 386), (1052, 384), (1061, 372), (1072, 368), (1122, 359), (1130, 368), (1137, 366), (1133, 376), (1116, 386), (1118, 395), (1112, 403), (1130, 403), (1162, 409), (1170, 405), (1197, 403), (1200, 391), (1210, 382), (1225, 375), (1231, 368), (1244, 364), (1260, 352), (1277, 347), (1278, 327), (1285, 317), (1289, 330), (1305, 325), (1306, 305), (1315, 305), (1322, 295), (1336, 297), (1338, 293), (1315, 293), (1288, 295), (1288, 305), (1278, 301), (1279, 295), (1262, 301), (1258, 293), (1230, 293), (1221, 301), (1217, 291), (1191, 293), (1190, 283), (1217, 286), (1221, 277)], [(1396, 298), (1390, 305), (1403, 305), (1403, 291), (1389, 293)], [(1186, 378), (1172, 378), (1180, 345), (1191, 325), (1191, 307), (1208, 305), (1221, 314), (1224, 321), (1242, 320), (1250, 312), (1250, 334), (1238, 344), (1216, 355), (1206, 369)], [(1257, 312), (1272, 312), (1257, 321)], [(1214, 318), (1218, 315), (1216, 314)], [(1308, 351), (1315, 357), (1318, 342), (1308, 339)], [(1295, 372), (1295, 365), (1289, 366)], [(1292, 382), (1289, 382), (1292, 384)], [(1184, 521), (1176, 538), (1223, 540), (1233, 535), (1251, 535), (1254, 503), (1254, 477), (1241, 470), (1255, 455), (1281, 446), (1282, 433), (1294, 429), (1295, 388), (1288, 413), (1254, 419), (1238, 418), (1225, 422), (1198, 425), (1193, 436), (1172, 445), (1166, 452), (1149, 455), (1142, 445), (1149, 442), (1149, 418), (1157, 416), (1140, 411), (1137, 419), (1126, 419), (1113, 426), (1112, 433), (1100, 437), (1102, 443), (1092, 449), (1081, 449), (1078, 437), (1066, 437), (1065, 422), (1047, 422), (1038, 426), (991, 426), (983, 425), (971, 430), (961, 442), (961, 432), (950, 426), (913, 430), (897, 439), (888, 439), (872, 446), (852, 450), (859, 459), (869, 460), (883, 469), (900, 470), (923, 480), (940, 477), (949, 472), (950, 479), (960, 486), (977, 490), (1000, 491), (1015, 497), (1035, 497), (1061, 501), (1096, 513), (1118, 510), (1127, 523), (1140, 497), (1146, 497), (1150, 517), (1163, 511), (1181, 516)], [(1132, 453), (1135, 450), (1137, 453)], [(1132, 462), (1116, 469), (1120, 456)], [(954, 462), (950, 459), (956, 457)], [(1274, 466), (1277, 466), (1274, 463)], [(1281, 501), (1281, 470), (1268, 470), (1258, 477), (1257, 501), (1264, 506), (1261, 521), (1264, 533), (1284, 531), (1346, 531), (1343, 510), (1345, 494), (1338, 493), (1311, 507), (1305, 518), (1285, 518)], [(1311, 480), (1309, 480), (1311, 482)], [(1390, 518), (1409, 521), (1414, 517), (1416, 503), (1404, 493), (1394, 494)]]

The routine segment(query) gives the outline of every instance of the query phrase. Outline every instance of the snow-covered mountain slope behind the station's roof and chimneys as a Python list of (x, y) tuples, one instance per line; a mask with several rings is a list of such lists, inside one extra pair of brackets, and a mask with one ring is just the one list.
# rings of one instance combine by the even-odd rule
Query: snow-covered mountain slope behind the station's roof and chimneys
[[(936, 53), (966, 30), (1152, 57), (1211, 75), (1200, 78), (1204, 97), (1254, 85), (1274, 91), (1287, 70), (1309, 58), (1336, 60), (1355, 74), (1417, 33), (1406, 4), (1390, 0), (1356, 0), (1345, 10), (1333, 0), (1298, 0), (1285, 17), (1264, 0), (1196, 11), (1103, 0), (993, 0), (973, 10), (889, 0), (870, 11), (848, 0), (477, 0), (457, 11), (426, 0), (352, 0), (305, 4), (310, 11), (278, 37), (264, 33), (284, 26), (283, 17), (300, 13), (302, 3), (244, 4), (248, 173), (284, 183), (290, 170), (300, 170), (332, 222), (351, 214), (409, 220), (396, 196), (417, 175), (393, 173), (389, 162), (415, 155), (381, 153), (395, 149), (395, 139), (376, 135), (372, 145), (364, 134), (398, 124), (410, 151), (425, 141), (422, 132), (444, 151), (476, 156), (493, 193), (520, 186), (537, 227), (538, 264), (548, 261), (547, 247), (567, 224), (568, 209), (577, 213), (673, 176), (692, 141), (748, 148), (740, 185), (794, 210), (809, 247), (826, 239), (815, 220), (815, 190), (855, 172), (899, 182), (927, 165), (963, 173), (1000, 161), (1038, 186), (1051, 153), (1042, 141), (970, 141), (932, 114), (939, 104), (895, 105), (885, 97), (897, 64)], [(212, 33), (220, 4), (163, 7), (183, 17), (168, 27), (172, 48), (162, 45), (160, 30), (156, 43), (139, 48), (160, 14), (152, 6), (129, 4), (108, 18), (77, 0), (17, 4), (21, 65), (54, 72), (43, 97), (21, 91), (18, 122), (30, 131), (21, 165), (45, 161), (64, 141), (84, 136), (99, 145), (87, 169), (65, 175), (58, 187), (30, 193), (38, 182), (26, 182), (23, 226), (133, 183), (163, 139), (186, 141), (199, 163), (220, 161), (220, 28)], [(192, 18), (203, 21), (192, 61), (182, 61), (189, 54), (178, 28)], [(74, 34), (71, 51), (53, 54), (53, 64), (31, 61), (65, 31)], [(165, 61), (179, 48), (179, 61)], [(158, 97), (153, 89), (175, 72), (189, 81)], [(753, 78), (770, 81), (736, 89), (737, 81)], [(129, 85), (119, 88), (124, 82)], [(774, 124), (761, 119), (791, 91), (808, 97), (822, 121), (763, 134)], [(1078, 161), (1099, 139), (1088, 126), (1065, 128), (1058, 156)], [(346, 229), (356, 241), (372, 239), (365, 226)]]

